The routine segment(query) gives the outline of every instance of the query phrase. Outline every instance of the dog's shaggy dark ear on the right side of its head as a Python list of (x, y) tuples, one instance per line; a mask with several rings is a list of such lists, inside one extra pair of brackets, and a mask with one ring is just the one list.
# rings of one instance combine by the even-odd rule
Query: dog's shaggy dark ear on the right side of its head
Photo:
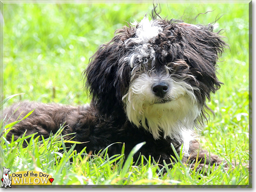
[(190, 46), (184, 51), (191, 66), (191, 72), (200, 81), (201, 90), (208, 99), (210, 99), (210, 92), (215, 93), (222, 84), (216, 76), (216, 63), (227, 47), (223, 36), (212, 30), (213, 27), (210, 24), (193, 27), (193, 34), (187, 36)]

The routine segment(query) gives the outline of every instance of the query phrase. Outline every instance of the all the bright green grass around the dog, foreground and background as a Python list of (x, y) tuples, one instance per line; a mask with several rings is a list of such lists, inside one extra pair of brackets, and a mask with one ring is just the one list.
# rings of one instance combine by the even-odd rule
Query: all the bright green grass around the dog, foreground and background
[[(122, 168), (123, 155), (96, 158), (63, 148), (60, 132), (45, 141), (8, 144), (0, 140), (1, 164), (12, 172), (42, 170), (52, 173), (55, 185), (249, 185), (249, 4), (161, 4), (161, 16), (185, 22), (208, 24), (224, 14), (215, 31), (230, 46), (219, 62), (224, 83), (212, 95), (215, 112), (202, 134), (202, 148), (218, 154), (237, 167), (207, 170), (205, 175), (177, 162), (167, 174), (156, 159), (143, 157), (145, 165), (132, 158)], [(83, 92), (81, 73), (97, 47), (108, 42), (116, 29), (141, 20), (152, 4), (4, 4), (4, 98), (81, 105), (89, 102)], [(193, 20), (198, 13), (202, 14)], [(10, 122), (11, 123), (11, 122)], [(6, 133), (5, 133), (6, 134)], [(84, 152), (85, 153), (85, 152)], [(69, 159), (73, 159), (70, 163)], [(229, 165), (230, 166), (230, 165)]]

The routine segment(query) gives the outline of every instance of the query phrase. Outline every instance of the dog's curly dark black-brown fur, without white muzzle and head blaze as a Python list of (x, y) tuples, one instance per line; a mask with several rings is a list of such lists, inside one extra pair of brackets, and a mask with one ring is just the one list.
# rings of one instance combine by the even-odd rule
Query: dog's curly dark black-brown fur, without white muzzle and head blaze
[[(163, 71), (168, 66), (175, 78), (184, 79), (194, 90), (195, 97), (200, 109), (200, 114), (195, 121), (203, 123), (206, 118), (206, 99), (210, 100), (210, 94), (215, 93), (220, 86), (216, 76), (216, 62), (219, 55), (225, 48), (222, 36), (213, 32), (212, 25), (189, 25), (175, 20), (156, 19), (157, 24), (163, 29), (157, 36), (151, 38), (148, 43), (154, 49), (155, 60), (154, 69)], [(125, 143), (125, 154), (129, 154), (132, 148), (143, 141), (146, 144), (139, 153), (145, 156), (153, 156), (170, 162), (171, 155), (174, 156), (171, 143), (180, 152), (181, 142), (170, 137), (164, 137), (160, 133), (160, 138), (156, 139), (151, 132), (141, 127), (137, 127), (128, 120), (123, 96), (128, 92), (132, 67), (127, 63), (126, 58), (132, 54), (136, 43), (129, 41), (136, 36), (136, 26), (124, 26), (117, 30), (114, 38), (107, 44), (101, 45), (98, 51), (83, 72), (85, 85), (89, 90), (92, 101), (90, 105), (72, 107), (59, 104), (43, 104), (35, 102), (21, 102), (4, 110), (9, 122), (23, 118), (28, 112), (35, 111), (26, 119), (15, 125), (13, 130), (7, 135), (7, 140), (19, 138), (25, 130), (26, 135), (37, 132), (37, 136), (43, 135), (47, 138), (50, 132), (56, 133), (60, 125), (65, 123), (63, 134), (75, 133), (67, 136), (67, 139), (74, 137), (75, 141), (86, 142), (76, 145), (79, 152), (84, 147), (87, 151), (98, 152), (108, 145), (116, 142)], [(148, 60), (148, 58), (144, 58)], [(148, 65), (140, 65), (143, 69), (135, 71), (150, 71)], [(143, 63), (138, 58), (134, 63)], [(137, 78), (141, 73), (135, 73), (133, 78)], [(193, 78), (188, 78), (193, 77)], [(14, 112), (17, 108), (19, 109)], [(120, 154), (122, 144), (112, 145), (108, 150), (109, 155)], [(191, 159), (196, 159), (198, 146), (191, 142), (189, 152)], [(195, 151), (195, 152), (194, 152)], [(139, 153), (135, 155), (138, 157)], [(204, 158), (205, 151), (200, 152), (200, 158)], [(216, 162), (217, 156), (212, 156), (211, 161)], [(211, 163), (212, 163), (211, 162)], [(210, 162), (209, 162), (210, 163)]]

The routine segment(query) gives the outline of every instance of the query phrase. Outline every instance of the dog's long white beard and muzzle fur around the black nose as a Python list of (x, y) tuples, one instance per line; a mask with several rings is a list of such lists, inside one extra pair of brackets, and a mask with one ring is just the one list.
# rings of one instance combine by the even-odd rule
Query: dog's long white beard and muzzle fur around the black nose
[[(159, 80), (170, 85), (164, 98), (152, 92), (152, 85)], [(137, 127), (150, 131), (155, 139), (163, 132), (164, 138), (184, 143), (183, 152), (186, 153), (189, 141), (194, 138), (193, 128), (200, 113), (194, 89), (197, 88), (170, 74), (157, 76), (143, 73), (131, 82), (123, 96), (128, 119)]]

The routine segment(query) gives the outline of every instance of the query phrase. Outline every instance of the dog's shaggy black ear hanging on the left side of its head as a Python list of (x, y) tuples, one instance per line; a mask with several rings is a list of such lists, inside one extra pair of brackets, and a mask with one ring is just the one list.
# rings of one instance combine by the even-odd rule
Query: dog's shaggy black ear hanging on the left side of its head
[(85, 87), (101, 113), (122, 110), (122, 94), (130, 77), (130, 66), (124, 63), (125, 55), (129, 54), (124, 41), (134, 34), (131, 26), (119, 29), (108, 44), (99, 47), (83, 73)]

